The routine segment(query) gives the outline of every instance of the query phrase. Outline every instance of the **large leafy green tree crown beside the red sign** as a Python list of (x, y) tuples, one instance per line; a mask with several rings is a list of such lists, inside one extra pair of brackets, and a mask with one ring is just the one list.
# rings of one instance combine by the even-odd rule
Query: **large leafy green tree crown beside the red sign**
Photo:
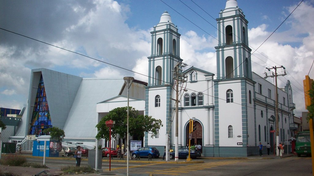
[[(117, 107), (104, 116), (96, 125), (98, 129), (97, 139), (105, 138), (109, 140), (109, 128), (106, 126), (108, 120), (116, 121), (116, 124), (111, 128), (111, 136), (116, 137), (125, 136), (127, 133), (127, 107)], [(154, 137), (160, 127), (162, 127), (161, 120), (156, 120), (152, 116), (140, 115), (138, 110), (129, 107), (129, 133), (131, 136), (137, 136), (142, 140), (144, 132), (151, 134)]]

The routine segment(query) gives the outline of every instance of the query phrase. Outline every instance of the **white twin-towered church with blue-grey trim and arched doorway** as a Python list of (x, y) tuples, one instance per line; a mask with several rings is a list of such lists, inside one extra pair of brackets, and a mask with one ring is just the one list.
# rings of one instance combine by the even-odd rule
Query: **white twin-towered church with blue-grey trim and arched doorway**
[[(191, 138), (192, 145), (203, 146), (203, 156), (213, 157), (252, 155), (258, 153), (259, 142), (274, 146), (274, 85), (252, 72), (248, 21), (236, 0), (227, 0), (216, 20), (216, 75), (195, 67), (184, 70), (179, 54), (180, 34), (168, 12), (154, 26), (148, 57), (146, 114), (161, 119), (164, 127), (157, 137), (146, 136), (145, 145), (166, 145), (169, 135), (170, 146), (175, 148), (178, 140), (180, 148)], [(278, 97), (279, 142), (284, 142), (294, 130), (289, 125), (295, 108), (289, 81), (284, 89), (278, 89)], [(194, 119), (195, 126), (191, 134), (190, 119)]]

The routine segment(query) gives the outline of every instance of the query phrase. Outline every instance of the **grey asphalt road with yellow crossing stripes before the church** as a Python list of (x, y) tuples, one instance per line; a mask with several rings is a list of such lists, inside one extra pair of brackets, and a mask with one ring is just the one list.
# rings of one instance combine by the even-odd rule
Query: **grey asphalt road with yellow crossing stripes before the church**
[[(29, 158), (30, 161), (42, 162), (41, 158)], [(74, 165), (74, 158), (70, 160), (47, 159), (46, 163), (50, 168), (63, 167), (65, 165)], [(154, 159), (153, 159), (154, 160)], [(220, 159), (198, 159), (201, 163), (186, 163), (182, 160), (179, 163), (165, 162), (155, 159), (148, 162), (146, 159), (132, 161), (129, 163), (130, 176), (312, 176), (312, 166), (310, 157), (247, 157), (247, 158), (220, 158)], [(126, 175), (126, 162), (113, 159), (111, 162), (111, 171), (109, 171), (109, 162), (102, 162), (104, 174)], [(88, 161), (83, 160), (81, 165), (88, 165)], [(88, 174), (96, 176), (98, 174)]]

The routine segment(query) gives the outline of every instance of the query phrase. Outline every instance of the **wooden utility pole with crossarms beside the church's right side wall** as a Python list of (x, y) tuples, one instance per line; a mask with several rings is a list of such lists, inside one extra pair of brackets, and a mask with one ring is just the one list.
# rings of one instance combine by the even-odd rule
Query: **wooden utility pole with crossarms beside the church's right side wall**
[[(277, 75), (277, 69), (279, 68), (283, 68), (284, 69), (284, 74), (281, 74), (281, 75)], [(267, 76), (267, 73), (265, 72), (265, 79), (268, 78), (268, 77), (275, 77), (275, 118), (276, 118), (276, 145), (279, 146), (279, 115), (278, 115), (278, 87), (277, 87), (277, 76), (284, 76), (284, 75), (287, 75), (286, 74), (286, 69), (284, 68), (284, 66), (280, 66), (280, 67), (277, 67), (277, 66), (274, 66), (273, 68), (267, 68), (266, 69), (268, 71), (270, 71), (271, 69), (274, 69), (275, 70), (275, 74), (273, 73), (272, 75), (270, 76)], [(279, 156), (279, 149), (277, 148), (276, 146), (276, 153), (277, 153), (277, 156)]]

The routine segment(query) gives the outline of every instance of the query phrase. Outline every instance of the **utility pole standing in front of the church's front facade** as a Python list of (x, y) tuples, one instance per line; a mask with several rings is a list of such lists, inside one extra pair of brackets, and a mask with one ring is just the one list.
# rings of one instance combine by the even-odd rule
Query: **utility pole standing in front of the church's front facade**
[(185, 67), (187, 66), (187, 64), (184, 64), (182, 62), (179, 62), (175, 69), (174, 69), (174, 73), (173, 73), (173, 79), (176, 80), (176, 148), (175, 148), (175, 161), (179, 160), (179, 82), (186, 82), (187, 80), (185, 80), (185, 78), (187, 78), (187, 76), (184, 76), (184, 74), (182, 74), (182, 69), (181, 67)]

